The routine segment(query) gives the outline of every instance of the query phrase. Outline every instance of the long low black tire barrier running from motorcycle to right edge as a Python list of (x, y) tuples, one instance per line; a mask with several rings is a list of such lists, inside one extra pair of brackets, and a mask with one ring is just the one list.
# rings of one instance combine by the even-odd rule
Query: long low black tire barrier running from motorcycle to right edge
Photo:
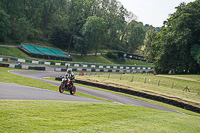
[(151, 95), (151, 94), (147, 94), (147, 93), (143, 93), (143, 92), (138, 92), (138, 91), (134, 91), (134, 90), (128, 90), (128, 89), (124, 89), (124, 88), (118, 88), (118, 87), (113, 87), (113, 86), (107, 86), (107, 85), (103, 85), (103, 84), (98, 84), (98, 83), (93, 83), (93, 82), (88, 82), (88, 81), (82, 81), (82, 80), (76, 80), (76, 83), (79, 84), (84, 84), (84, 85), (88, 85), (88, 86), (93, 86), (93, 87), (98, 87), (98, 88), (102, 88), (102, 89), (107, 89), (107, 90), (111, 90), (111, 91), (116, 91), (116, 92), (121, 92), (121, 93), (125, 93), (125, 94), (130, 94), (130, 95), (134, 95), (134, 96), (139, 96), (139, 97), (143, 97), (143, 98), (147, 98), (147, 99), (151, 99), (151, 100), (155, 100), (155, 101), (159, 101), (159, 102), (163, 102), (163, 103), (167, 103), (176, 107), (180, 107), (186, 110), (190, 110), (196, 113), (200, 113), (200, 108), (195, 107), (193, 105), (189, 105), (183, 102), (179, 102), (176, 100), (172, 100), (172, 99), (168, 99), (165, 97), (161, 97), (161, 96), (155, 96), (155, 95)]

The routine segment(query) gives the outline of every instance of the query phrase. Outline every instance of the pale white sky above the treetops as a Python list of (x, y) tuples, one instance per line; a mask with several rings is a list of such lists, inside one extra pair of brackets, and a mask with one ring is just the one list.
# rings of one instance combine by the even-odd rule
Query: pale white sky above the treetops
[(118, 0), (121, 4), (137, 16), (137, 21), (154, 27), (162, 27), (163, 21), (169, 14), (176, 11), (180, 3), (194, 2), (195, 0)]

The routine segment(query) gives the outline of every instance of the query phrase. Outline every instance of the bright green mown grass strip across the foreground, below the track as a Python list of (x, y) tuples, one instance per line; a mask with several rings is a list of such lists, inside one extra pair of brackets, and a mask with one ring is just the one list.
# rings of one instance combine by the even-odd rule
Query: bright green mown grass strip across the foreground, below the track
[(199, 132), (200, 117), (102, 103), (0, 101), (0, 132)]

